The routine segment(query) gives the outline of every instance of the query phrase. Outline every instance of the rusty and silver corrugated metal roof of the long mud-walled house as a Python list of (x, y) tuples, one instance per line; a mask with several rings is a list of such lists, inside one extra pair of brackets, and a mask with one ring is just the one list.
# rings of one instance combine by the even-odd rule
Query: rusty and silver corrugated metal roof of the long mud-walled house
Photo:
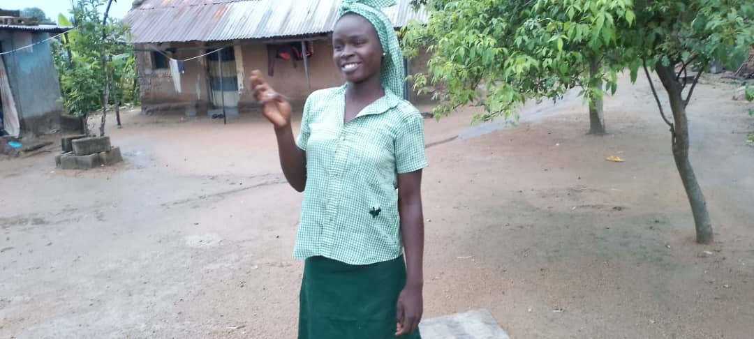
[[(394, 26), (426, 22), (409, 0), (385, 8)], [(135, 43), (228, 41), (332, 32), (341, 0), (146, 0), (123, 18)]]

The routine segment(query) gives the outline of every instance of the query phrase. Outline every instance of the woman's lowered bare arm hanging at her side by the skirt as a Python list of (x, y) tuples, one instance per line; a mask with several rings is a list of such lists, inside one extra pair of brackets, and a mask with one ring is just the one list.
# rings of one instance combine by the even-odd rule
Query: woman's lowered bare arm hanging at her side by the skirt
[(397, 304), (396, 335), (418, 329), (423, 311), (424, 216), (421, 211), (421, 170), (398, 175), (400, 236), (406, 252), (406, 286)]

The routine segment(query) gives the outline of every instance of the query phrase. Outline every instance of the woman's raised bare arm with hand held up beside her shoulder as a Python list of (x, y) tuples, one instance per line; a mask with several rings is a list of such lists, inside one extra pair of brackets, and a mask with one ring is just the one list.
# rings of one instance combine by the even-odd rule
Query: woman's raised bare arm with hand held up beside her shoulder
[(262, 78), (262, 72), (255, 70), (251, 75), (251, 88), (254, 98), (262, 104), (262, 113), (272, 123), (277, 136), (277, 153), (280, 167), (288, 183), (299, 192), (306, 188), (306, 152), (296, 145), (293, 129), (290, 126), (290, 102), (285, 96), (275, 92)]

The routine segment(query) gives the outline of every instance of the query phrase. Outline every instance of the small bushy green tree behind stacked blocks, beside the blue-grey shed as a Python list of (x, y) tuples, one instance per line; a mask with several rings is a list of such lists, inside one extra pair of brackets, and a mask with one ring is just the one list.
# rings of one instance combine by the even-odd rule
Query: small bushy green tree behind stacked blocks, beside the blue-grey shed
[[(119, 105), (124, 98), (121, 93), (133, 93), (130, 87), (136, 86), (134, 81), (124, 80), (136, 76), (133, 49), (125, 44), (128, 28), (100, 14), (102, 5), (103, 0), (73, 4), (76, 29), (65, 35), (63, 42), (54, 44), (63, 105), (84, 119), (102, 109), (100, 136), (105, 134), (107, 105)], [(62, 15), (59, 20), (67, 21)], [(115, 95), (110, 96), (111, 92)]]

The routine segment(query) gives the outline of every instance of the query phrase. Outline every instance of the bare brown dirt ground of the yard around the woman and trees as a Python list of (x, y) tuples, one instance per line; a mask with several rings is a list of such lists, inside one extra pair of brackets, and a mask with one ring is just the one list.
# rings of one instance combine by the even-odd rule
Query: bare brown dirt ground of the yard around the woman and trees
[[(606, 100), (608, 136), (584, 135), (573, 97), (515, 128), (469, 128), (477, 108), (426, 121), (426, 317), (486, 308), (513, 338), (752, 337), (751, 105), (713, 77), (689, 105), (717, 232), (700, 246), (638, 82)], [(271, 128), (130, 112), (109, 134), (112, 168), (0, 160), (0, 337), (295, 337), (301, 196)]]

